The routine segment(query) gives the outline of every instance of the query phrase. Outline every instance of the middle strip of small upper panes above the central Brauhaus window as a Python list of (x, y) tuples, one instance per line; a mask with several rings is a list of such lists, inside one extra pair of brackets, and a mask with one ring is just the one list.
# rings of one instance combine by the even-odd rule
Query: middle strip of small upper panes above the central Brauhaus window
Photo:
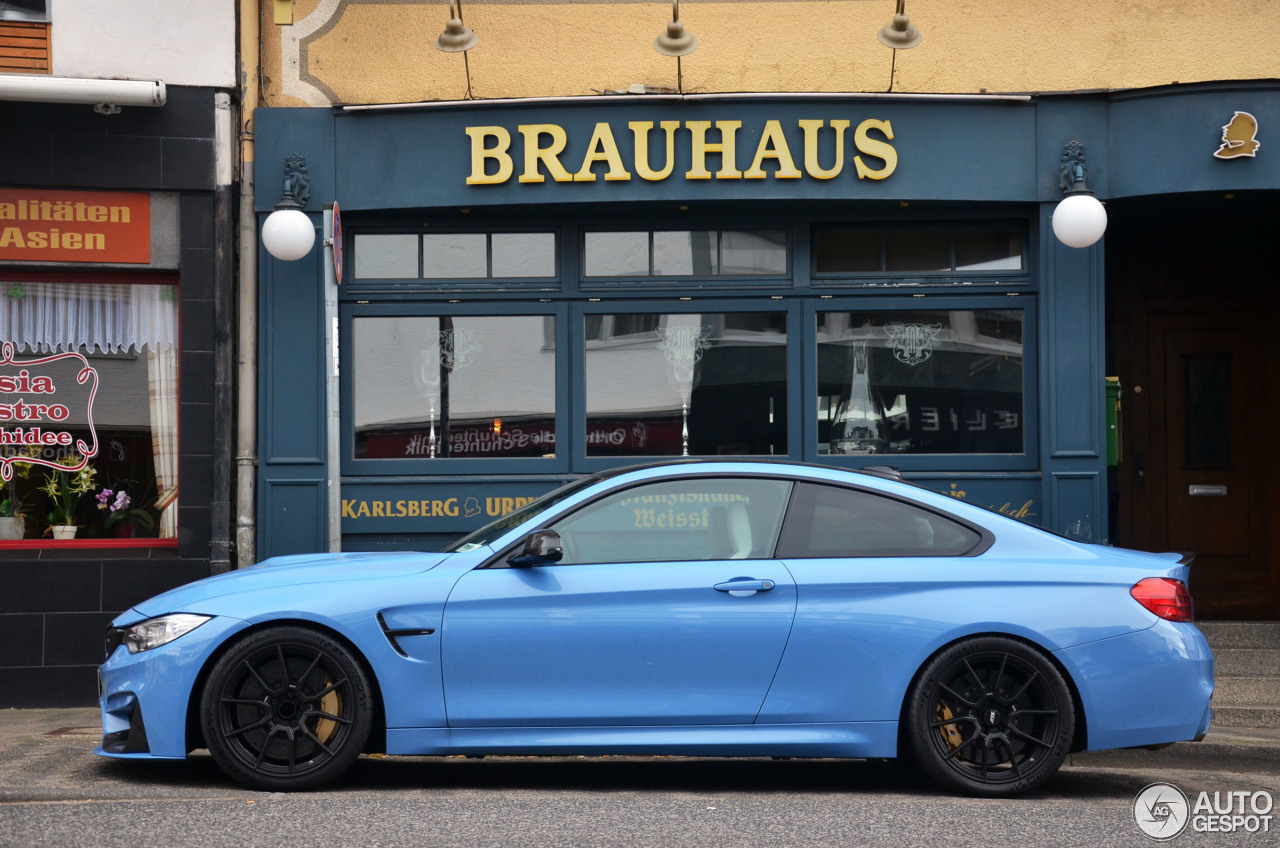
[(787, 234), (777, 231), (588, 232), (585, 277), (782, 277)]

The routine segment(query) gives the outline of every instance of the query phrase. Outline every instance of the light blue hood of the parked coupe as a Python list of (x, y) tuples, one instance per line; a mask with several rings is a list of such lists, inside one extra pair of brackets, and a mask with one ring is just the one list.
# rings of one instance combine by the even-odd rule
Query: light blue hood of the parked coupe
[[(303, 553), (264, 560), (257, 565), (196, 580), (148, 598), (133, 607), (150, 619), (180, 612), (210, 598), (289, 585), (376, 580), (429, 571), (448, 553)], [(124, 616), (122, 616), (124, 617)], [(133, 616), (129, 616), (133, 617)]]

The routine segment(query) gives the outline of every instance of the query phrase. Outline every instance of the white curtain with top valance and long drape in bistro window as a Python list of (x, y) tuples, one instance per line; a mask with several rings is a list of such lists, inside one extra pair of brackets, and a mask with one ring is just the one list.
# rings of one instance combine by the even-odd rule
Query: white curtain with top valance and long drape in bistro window
[(178, 535), (178, 296), (173, 286), (0, 284), (0, 332), (19, 351), (147, 354), (160, 538)]

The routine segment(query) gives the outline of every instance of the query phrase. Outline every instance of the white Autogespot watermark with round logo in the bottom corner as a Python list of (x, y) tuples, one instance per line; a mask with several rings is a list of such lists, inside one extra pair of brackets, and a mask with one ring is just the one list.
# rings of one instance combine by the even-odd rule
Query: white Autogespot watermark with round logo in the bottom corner
[(1153, 783), (1133, 799), (1133, 820), (1152, 839), (1196, 833), (1271, 833), (1270, 792), (1201, 792), (1194, 803), (1171, 783)]

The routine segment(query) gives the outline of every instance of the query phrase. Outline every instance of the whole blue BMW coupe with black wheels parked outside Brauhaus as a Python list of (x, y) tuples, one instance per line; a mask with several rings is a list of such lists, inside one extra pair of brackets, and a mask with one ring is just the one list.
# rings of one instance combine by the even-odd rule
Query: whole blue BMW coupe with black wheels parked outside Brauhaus
[(1199, 739), (1188, 560), (899, 479), (686, 461), (579, 479), (436, 553), (268, 560), (108, 630), (102, 744), (259, 789), (361, 753), (910, 757), (1012, 795)]

